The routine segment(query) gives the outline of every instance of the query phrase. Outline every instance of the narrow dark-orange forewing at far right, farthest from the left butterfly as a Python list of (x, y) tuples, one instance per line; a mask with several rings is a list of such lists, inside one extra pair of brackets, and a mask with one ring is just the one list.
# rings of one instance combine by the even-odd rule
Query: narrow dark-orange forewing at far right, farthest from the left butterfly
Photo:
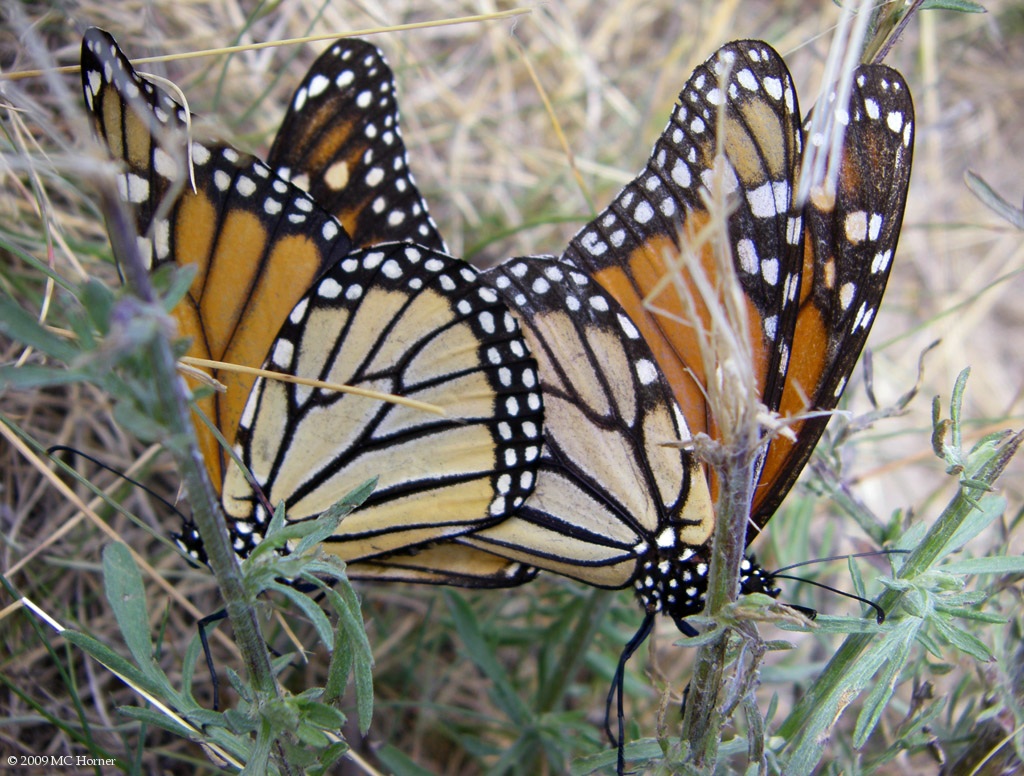
[[(853, 79), (835, 197), (812, 192), (800, 313), (781, 413), (836, 407), (885, 293), (906, 204), (913, 156), (913, 101), (899, 73), (862, 66)], [(775, 512), (810, 457), (827, 416), (776, 438), (755, 494), (753, 521)]]

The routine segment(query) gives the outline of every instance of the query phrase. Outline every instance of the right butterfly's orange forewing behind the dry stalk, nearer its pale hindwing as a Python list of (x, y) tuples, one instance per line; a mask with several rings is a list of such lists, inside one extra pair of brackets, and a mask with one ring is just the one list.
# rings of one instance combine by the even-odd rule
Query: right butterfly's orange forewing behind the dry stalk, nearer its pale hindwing
[[(801, 230), (792, 202), (800, 152), (785, 64), (767, 44), (730, 43), (694, 71), (640, 176), (565, 252), (636, 321), (693, 433), (712, 430), (694, 336), (710, 321), (699, 300), (696, 319), (686, 314), (680, 295), (681, 286), (692, 287), (696, 263), (719, 275), (706, 236), (708, 197), (724, 193), (730, 210), (729, 248), (746, 299), (758, 388), (775, 408), (796, 316)], [(716, 155), (727, 162), (721, 178)]]

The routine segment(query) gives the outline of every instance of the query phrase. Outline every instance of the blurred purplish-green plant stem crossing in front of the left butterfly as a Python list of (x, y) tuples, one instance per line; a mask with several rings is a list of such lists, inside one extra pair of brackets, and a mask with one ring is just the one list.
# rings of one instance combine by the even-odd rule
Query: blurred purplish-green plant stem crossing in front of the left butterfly
[[(112, 195), (109, 186), (100, 187), (100, 198), (114, 254), (121, 263), (128, 288), (143, 305), (154, 309), (157, 307), (156, 295), (134, 238), (128, 236), (134, 230), (125, 217), (124, 207)], [(164, 337), (155, 337), (147, 348), (157, 397), (160, 406), (166, 411), (162, 420), (167, 425), (169, 438), (165, 443), (188, 488), (193, 519), (203, 537), (210, 568), (217, 577), (224, 597), (227, 618), (234, 630), (234, 638), (249, 672), (258, 708), (262, 702), (280, 696), (280, 691), (259, 620), (256, 618), (256, 610), (242, 584), (242, 569), (231, 548), (227, 524), (193, 435), (188, 403), (181, 389), (182, 382), (177, 374), (170, 344)], [(287, 768), (287, 765), (284, 767)]]

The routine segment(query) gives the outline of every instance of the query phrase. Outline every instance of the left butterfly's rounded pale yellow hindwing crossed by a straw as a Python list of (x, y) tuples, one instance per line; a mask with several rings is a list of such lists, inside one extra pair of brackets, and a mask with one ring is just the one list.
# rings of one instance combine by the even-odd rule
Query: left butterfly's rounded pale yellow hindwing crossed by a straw
[[(338, 262), (282, 328), (267, 369), (398, 394), (422, 409), (257, 380), (238, 446), (270, 504), (314, 517), (379, 476), (326, 549), (356, 560), (499, 521), (536, 484), (542, 399), (515, 319), (476, 271), (408, 244)], [(245, 555), (269, 519), (237, 468), (223, 503)]]

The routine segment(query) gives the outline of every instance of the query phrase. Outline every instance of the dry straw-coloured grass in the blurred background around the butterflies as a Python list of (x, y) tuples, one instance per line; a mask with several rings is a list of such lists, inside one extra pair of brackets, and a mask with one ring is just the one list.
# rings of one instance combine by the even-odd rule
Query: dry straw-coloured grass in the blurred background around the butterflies
[[(105, 4), (83, 0), (61, 11), (26, 2), (4, 8), (0, 66), (10, 73), (54, 62), (77, 63), (81, 33), (89, 26), (114, 33), (136, 57), (509, 7), (510, 3), (482, 0), (284, 0), (261, 7), (229, 0)], [(966, 409), (972, 438), (993, 428), (1024, 425), (1020, 302), (1024, 240), (981, 206), (963, 182), (970, 168), (1011, 201), (1019, 202), (1022, 195), (1024, 10), (1014, 0), (990, 0), (986, 7), (989, 12), (984, 15), (919, 15), (887, 60), (902, 71), (913, 90), (918, 144), (900, 249), (869, 341), (879, 401), (892, 402), (910, 388), (919, 353), (933, 340), (942, 342), (926, 362), (921, 394), (907, 413), (878, 424), (844, 449), (845, 475), (883, 519), (897, 509), (913, 509), (924, 519), (934, 517), (952, 492), (954, 483), (930, 451), (930, 397), (941, 394), (948, 401), (953, 379), (964, 367), (973, 369)], [(373, 40), (396, 71), (412, 166), (453, 253), (492, 262), (516, 254), (559, 253), (588, 219), (588, 197), (600, 208), (633, 177), (646, 161), (690, 70), (728, 40), (762, 38), (782, 52), (807, 110), (837, 14), (838, 8), (826, 0), (554, 0), (532, 6), (531, 13), (514, 21), (388, 33)], [(147, 70), (173, 78), (209, 127), (259, 153), (266, 150), (291, 89), (326, 45), (158, 63)], [(570, 174), (524, 58), (553, 102), (586, 192)], [(16, 257), (12, 249), (20, 248), (50, 261), (66, 277), (78, 281), (85, 273), (115, 285), (102, 221), (83, 180), (88, 160), (97, 150), (81, 110), (78, 76), (3, 82), (0, 89), (30, 109), (19, 113), (7, 109), (0, 115), (5, 133), (0, 138), (4, 147), (0, 236), (7, 246), (0, 260), (0, 283), (27, 306), (40, 309), (44, 278)], [(24, 352), (19, 345), (3, 340), (0, 349), (4, 362)], [(858, 370), (848, 392), (849, 408), (855, 413), (869, 408), (860, 375)], [(74, 445), (125, 471), (138, 465), (141, 447), (119, 430), (109, 397), (96, 389), (79, 385), (36, 392), (7, 390), (0, 393), (0, 412), (44, 445)], [(144, 494), (108, 473), (91, 470), (88, 463), (80, 466), (97, 485), (125, 499), (157, 536), (176, 522)], [(142, 470), (146, 481), (173, 492), (176, 480), (168, 457), (146, 459)], [(82, 499), (90, 498), (82, 487), (74, 483), (71, 487)], [(1009, 526), (1024, 502), (1020, 463), (1007, 473), (1001, 487), (1010, 503)], [(0, 488), (5, 540), (0, 567), (11, 583), (62, 621), (117, 643), (98, 574), (106, 535), (81, 520), (78, 507), (9, 441), (0, 441)], [(798, 552), (793, 546), (801, 543), (791, 538), (792, 531), (807, 530), (803, 518), (809, 508), (819, 521), (812, 531), (812, 553), (859, 548), (858, 529), (835, 508), (794, 501), (797, 505), (783, 508), (771, 524), (765, 547), (755, 548), (769, 562), (808, 557), (792, 555)], [(183, 571), (183, 564), (162, 541), (123, 517), (102, 509), (100, 515), (201, 610), (216, 608), (209, 577)], [(62, 530), (67, 530), (63, 535), (24, 562)], [(828, 534), (823, 541), (822, 533)], [(1009, 527), (1004, 534), (979, 540), (986, 542), (1009, 552), (1024, 551), (1021, 535), (1011, 535)], [(12, 571), (15, 564), (22, 565)], [(843, 569), (840, 572), (844, 574)], [(866, 568), (865, 575), (870, 577), (871, 569)], [(848, 581), (845, 587), (849, 589)], [(462, 646), (451, 634), (441, 594), (387, 588), (364, 590), (362, 595), (378, 660), (378, 712), (370, 743), (392, 744), (431, 772), (480, 772), (480, 763), (487, 762), (485, 746), (505, 745), (514, 731), (499, 719), (478, 672), (461, 656)], [(562, 616), (559, 607), (564, 602), (587, 595), (548, 580), (469, 598), (481, 618), (493, 619), (496, 633), (511, 645), (500, 654), (510, 673), (528, 688), (541, 659), (538, 650), (529, 648), (535, 635)], [(803, 601), (810, 595), (787, 588), (783, 599)], [(1016, 600), (1014, 595), (1011, 592), (1008, 600)], [(806, 600), (825, 611), (852, 610), (835, 598), (824, 603), (818, 598)], [(169, 605), (156, 588), (150, 607), (154, 627), (164, 628), (164, 649), (180, 655), (194, 633), (193, 617)], [(566, 723), (566, 735), (580, 739), (578, 751), (600, 748), (596, 723), (603, 716), (608, 663), (637, 615), (627, 594), (616, 599), (594, 655), (588, 657), (587, 676), (573, 685), (569, 705), (582, 709), (582, 722)], [(658, 699), (651, 684), (678, 693), (690, 660), (672, 646), (671, 623), (662, 624), (654, 659), (647, 660), (655, 681), (643, 679), (643, 662), (638, 660), (632, 673), (637, 681), (628, 697), (635, 732), (644, 735), (651, 735), (656, 725)], [(8, 613), (0, 620), (6, 685), (0, 690), (0, 707), (7, 721), (0, 726), (0, 750), (17, 755), (74, 749), (39, 712), (42, 707), (74, 717), (67, 707), (67, 680), (57, 675), (50, 656), (38, 647), (23, 646), (36, 643), (29, 627), (24, 612)], [(130, 693), (96, 664), (66, 651), (59, 639), (52, 641), (75, 675), (85, 706), (83, 719), (112, 750), (120, 756), (122, 747), (126, 752), (142, 747), (138, 753), (142, 770), (189, 772), (190, 758), (203, 762), (197, 749), (160, 733), (140, 742), (135, 728), (119, 729), (122, 721), (115, 706), (133, 702)], [(797, 667), (827, 654), (827, 642), (804, 639), (795, 654), (782, 656), (778, 675), (795, 674)], [(313, 659), (305, 673), (290, 675), (293, 688), (315, 677)], [(232, 658), (226, 650), (218, 650), (218, 660), (231, 664)], [(966, 663), (962, 667), (969, 675), (974, 671)], [(1000, 676), (994, 666), (979, 674), (969, 682), (975, 685), (972, 697), (979, 702), (988, 697)], [(205, 680), (200, 676), (198, 681)], [(961, 681), (968, 680), (961, 677)], [(772, 689), (786, 702), (792, 682)], [(672, 704), (678, 705), (678, 695), (673, 697)], [(481, 748), (471, 751), (467, 741), (476, 741)], [(837, 741), (836, 750), (839, 762), (849, 756), (842, 741)], [(546, 768), (557, 772), (555, 766)], [(936, 768), (918, 757), (902, 761), (891, 772), (930, 773)]]

